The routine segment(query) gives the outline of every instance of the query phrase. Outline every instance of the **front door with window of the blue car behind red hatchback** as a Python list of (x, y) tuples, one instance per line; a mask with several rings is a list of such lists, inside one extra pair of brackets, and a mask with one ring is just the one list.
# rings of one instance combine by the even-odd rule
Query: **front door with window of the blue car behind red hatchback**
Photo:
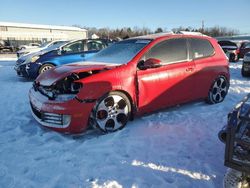
[(57, 57), (60, 64), (74, 63), (84, 60), (84, 41), (79, 40), (65, 45), (62, 54)]

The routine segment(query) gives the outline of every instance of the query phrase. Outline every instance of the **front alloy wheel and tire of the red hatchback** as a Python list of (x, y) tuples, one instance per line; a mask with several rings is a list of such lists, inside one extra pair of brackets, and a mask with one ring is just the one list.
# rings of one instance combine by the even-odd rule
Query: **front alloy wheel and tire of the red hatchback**
[(131, 117), (131, 103), (128, 97), (112, 91), (99, 100), (92, 110), (92, 125), (104, 133), (115, 132), (125, 127)]

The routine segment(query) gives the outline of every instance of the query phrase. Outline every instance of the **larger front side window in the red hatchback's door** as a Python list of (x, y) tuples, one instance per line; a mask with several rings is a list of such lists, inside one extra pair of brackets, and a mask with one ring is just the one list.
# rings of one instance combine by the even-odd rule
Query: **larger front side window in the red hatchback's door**
[(187, 40), (169, 39), (163, 41), (148, 51), (145, 59), (156, 58), (163, 64), (187, 60)]

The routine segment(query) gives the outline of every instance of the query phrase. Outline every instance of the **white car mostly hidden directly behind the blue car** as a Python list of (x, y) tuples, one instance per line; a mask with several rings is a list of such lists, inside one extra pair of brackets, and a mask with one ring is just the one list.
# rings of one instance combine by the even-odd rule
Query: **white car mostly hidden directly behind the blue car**
[(67, 40), (54, 40), (54, 41), (50, 41), (50, 42), (45, 42), (42, 45), (36, 47), (36, 48), (25, 48), (25, 49), (21, 49), (19, 51), (17, 51), (17, 57), (21, 57), (22, 55), (27, 55), (29, 53), (34, 53), (34, 52), (38, 52), (41, 50), (44, 50), (46, 48), (49, 48), (53, 45), (60, 45), (60, 44), (64, 44), (65, 42), (68, 42)]

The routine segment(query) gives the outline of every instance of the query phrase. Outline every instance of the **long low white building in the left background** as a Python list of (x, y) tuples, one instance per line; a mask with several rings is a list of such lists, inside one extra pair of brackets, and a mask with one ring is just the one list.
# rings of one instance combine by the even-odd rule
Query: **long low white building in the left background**
[(84, 39), (88, 31), (78, 27), (0, 22), (0, 40), (20, 45), (58, 39)]

